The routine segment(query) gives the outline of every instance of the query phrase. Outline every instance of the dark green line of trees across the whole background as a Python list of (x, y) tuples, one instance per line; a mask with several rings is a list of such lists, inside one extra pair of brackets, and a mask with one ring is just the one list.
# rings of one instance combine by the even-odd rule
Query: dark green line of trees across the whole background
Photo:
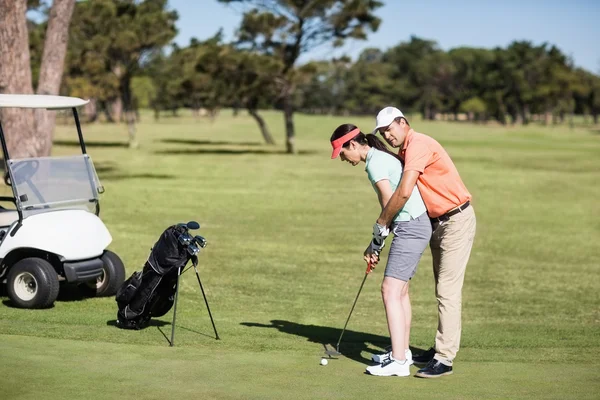
[[(132, 145), (139, 108), (153, 109), (156, 118), (180, 108), (213, 117), (224, 107), (245, 109), (269, 144), (275, 139), (260, 110), (280, 109), (290, 153), (295, 152), (296, 111), (373, 115), (395, 104), (426, 119), (466, 116), (501, 124), (549, 124), (580, 114), (598, 122), (600, 77), (576, 68), (548, 43), (515, 41), (506, 48), (444, 51), (435, 41), (411, 37), (389, 49), (368, 48), (356, 60), (298, 65), (299, 57), (317, 46), (367, 39), (379, 27), (374, 11), (382, 3), (218, 1), (235, 4), (243, 13), (235, 39), (225, 42), (217, 32), (187, 46), (172, 42), (178, 15), (167, 0), (55, 0), (51, 9), (39, 1), (16, 0), (21, 7), (12, 12), (23, 12), (27, 3), (30, 9), (42, 7), (48, 16), (27, 22), (31, 87), (41, 87), (48, 80), (45, 53), (60, 48), (47, 43), (52, 10), (72, 6), (56, 92), (90, 98), (90, 120), (103, 116), (127, 122)], [(0, 78), (5, 64), (0, 63)]]

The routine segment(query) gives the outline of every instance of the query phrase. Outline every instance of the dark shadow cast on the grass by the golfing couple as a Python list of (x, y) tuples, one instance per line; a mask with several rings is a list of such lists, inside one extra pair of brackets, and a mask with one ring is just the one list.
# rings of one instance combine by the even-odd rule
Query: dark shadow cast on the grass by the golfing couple
[[(331, 345), (335, 349), (342, 330), (340, 328), (331, 328), (329, 326), (304, 325), (291, 321), (271, 320), (271, 325), (260, 324), (256, 322), (242, 322), (241, 325), (252, 328), (272, 328), (279, 332), (305, 337), (309, 342), (318, 343), (322, 346)], [(370, 358), (361, 355), (366, 353), (380, 353), (390, 344), (390, 338), (387, 336), (373, 335), (371, 333), (357, 332), (346, 329), (340, 343), (340, 353), (354, 361), (362, 364), (371, 365)], [(411, 349), (413, 349), (411, 347)], [(413, 352), (421, 353), (423, 349), (414, 348)]]

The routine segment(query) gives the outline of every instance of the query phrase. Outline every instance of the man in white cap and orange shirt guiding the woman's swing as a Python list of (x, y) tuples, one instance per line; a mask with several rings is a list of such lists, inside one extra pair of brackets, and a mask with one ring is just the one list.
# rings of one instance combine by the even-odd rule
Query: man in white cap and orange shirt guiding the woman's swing
[(449, 375), (460, 346), (462, 286), (475, 237), (471, 194), (444, 148), (435, 139), (411, 129), (400, 110), (395, 107), (381, 110), (377, 115), (377, 131), (388, 144), (400, 148), (398, 154), (404, 161), (404, 172), (373, 227), (373, 240), (365, 259), (378, 260), (390, 222), (416, 183), (433, 227), (429, 246), (438, 301), (438, 328), (435, 347), (413, 359), (415, 363), (427, 363), (417, 372), (418, 377)]

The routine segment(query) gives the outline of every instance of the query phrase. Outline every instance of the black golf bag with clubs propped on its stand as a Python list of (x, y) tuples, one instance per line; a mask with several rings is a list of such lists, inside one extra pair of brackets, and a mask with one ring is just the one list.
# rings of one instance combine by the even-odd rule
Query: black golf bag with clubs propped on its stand
[(152, 247), (144, 268), (123, 282), (116, 295), (119, 328), (143, 329), (152, 317), (163, 316), (173, 307), (179, 269), (196, 257), (189, 251), (186, 237), (185, 225), (167, 228)]

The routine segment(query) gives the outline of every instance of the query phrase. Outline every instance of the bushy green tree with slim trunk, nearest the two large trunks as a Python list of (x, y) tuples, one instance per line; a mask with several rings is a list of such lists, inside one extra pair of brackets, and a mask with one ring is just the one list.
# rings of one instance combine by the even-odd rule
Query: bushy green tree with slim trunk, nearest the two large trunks
[(100, 91), (117, 85), (117, 111), (122, 107), (131, 147), (137, 146), (132, 79), (145, 60), (175, 37), (176, 20), (167, 0), (95, 0), (75, 7), (71, 36), (76, 46), (70, 60), (77, 73), (72, 76), (100, 83)]

